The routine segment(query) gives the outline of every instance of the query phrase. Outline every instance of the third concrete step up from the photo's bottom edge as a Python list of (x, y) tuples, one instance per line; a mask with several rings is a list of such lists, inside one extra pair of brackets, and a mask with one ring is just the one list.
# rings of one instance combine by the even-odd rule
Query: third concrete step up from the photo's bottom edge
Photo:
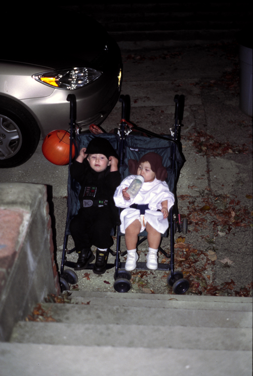
[(98, 306), (91, 304), (50, 304), (41, 307), (57, 322), (82, 324), (171, 325), (194, 327), (251, 328), (252, 312)]

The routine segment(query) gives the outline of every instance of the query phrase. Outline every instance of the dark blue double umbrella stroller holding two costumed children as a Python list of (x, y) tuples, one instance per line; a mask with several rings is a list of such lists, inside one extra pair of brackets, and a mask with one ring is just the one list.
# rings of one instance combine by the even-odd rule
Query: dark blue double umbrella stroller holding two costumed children
[[(122, 104), (122, 114), (119, 124), (119, 128), (115, 129), (113, 133), (100, 133), (99, 129), (92, 130), (94, 133), (79, 133), (79, 129), (75, 126), (75, 114), (76, 114), (76, 100), (75, 96), (70, 94), (67, 97), (67, 101), (70, 102), (70, 153), (69, 153), (69, 168), (72, 161), (72, 147), (75, 147), (75, 154), (81, 148), (87, 147), (89, 142), (94, 137), (106, 138), (117, 154), (119, 155), (119, 172), (122, 180), (130, 175), (128, 160), (130, 158), (140, 160), (141, 156), (148, 152), (156, 152), (162, 156), (162, 164), (167, 170), (166, 182), (171, 192), (175, 195), (175, 203), (170, 209), (168, 215), (168, 229), (161, 235), (161, 243), (163, 237), (170, 236), (170, 248), (171, 252), (166, 253), (161, 244), (158, 248), (158, 252), (161, 252), (167, 259), (170, 259), (168, 263), (158, 263), (157, 270), (162, 270), (164, 272), (170, 271), (167, 277), (168, 285), (172, 286), (175, 294), (184, 294), (189, 288), (189, 281), (183, 278), (183, 273), (181, 271), (174, 270), (174, 236), (175, 232), (187, 233), (187, 218), (181, 220), (180, 214), (178, 213), (177, 204), (177, 182), (180, 175), (180, 170), (184, 164), (184, 157), (181, 152), (180, 147), (180, 129), (182, 126), (183, 110), (184, 110), (184, 96), (176, 95), (174, 98), (175, 102), (175, 122), (173, 127), (170, 129), (171, 135), (158, 135), (153, 132), (144, 130), (136, 126), (134, 123), (127, 121), (130, 112), (130, 98), (129, 96), (121, 95), (119, 101)], [(68, 176), (68, 197), (67, 197), (67, 219), (65, 227), (65, 236), (62, 252), (62, 262), (60, 269), (60, 285), (61, 289), (69, 290), (69, 284), (75, 284), (78, 282), (78, 277), (76, 273), (72, 270), (75, 268), (75, 263), (67, 260), (67, 255), (75, 251), (75, 248), (67, 249), (68, 236), (70, 234), (69, 223), (71, 219), (77, 215), (79, 210), (79, 200), (78, 194), (80, 190), (80, 185), (74, 179), (71, 178), (70, 173)], [(120, 209), (119, 209), (120, 210)], [(125, 262), (120, 260), (120, 257), (125, 256), (125, 252), (120, 252), (120, 238), (124, 234), (120, 232), (119, 226), (117, 229), (112, 229), (111, 235), (115, 235), (116, 230), (116, 252), (109, 249), (109, 252), (115, 257), (114, 264), (107, 264), (107, 269), (115, 268), (114, 273), (114, 284), (113, 287), (118, 293), (126, 293), (131, 287), (131, 277), (132, 274), (126, 271)], [(139, 241), (137, 243), (140, 245), (143, 241), (147, 239), (147, 232), (144, 230), (139, 234)], [(69, 267), (71, 269), (65, 269)], [(86, 269), (93, 269), (94, 264), (88, 264)], [(137, 262), (136, 269), (147, 270), (146, 263)]]

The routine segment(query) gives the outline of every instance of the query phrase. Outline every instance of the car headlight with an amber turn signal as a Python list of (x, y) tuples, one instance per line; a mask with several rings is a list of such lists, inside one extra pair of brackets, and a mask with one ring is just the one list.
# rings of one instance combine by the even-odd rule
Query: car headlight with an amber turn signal
[(44, 85), (63, 90), (74, 90), (82, 88), (91, 83), (102, 74), (101, 71), (93, 68), (69, 68), (57, 69), (32, 75), (36, 81)]

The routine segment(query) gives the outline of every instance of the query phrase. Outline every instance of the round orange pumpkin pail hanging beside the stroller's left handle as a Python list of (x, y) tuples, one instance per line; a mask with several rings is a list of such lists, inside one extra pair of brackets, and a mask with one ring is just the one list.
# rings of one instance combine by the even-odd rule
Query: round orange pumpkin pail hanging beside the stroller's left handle
[[(70, 133), (63, 130), (50, 132), (43, 144), (42, 152), (51, 163), (65, 165), (69, 163)], [(75, 155), (75, 147), (72, 145), (72, 158)]]

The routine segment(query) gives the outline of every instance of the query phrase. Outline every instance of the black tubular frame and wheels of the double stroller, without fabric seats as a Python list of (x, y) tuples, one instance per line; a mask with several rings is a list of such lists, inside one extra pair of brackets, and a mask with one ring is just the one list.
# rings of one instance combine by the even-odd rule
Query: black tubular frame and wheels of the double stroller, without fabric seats
[[(74, 141), (75, 134), (79, 134), (78, 128), (75, 128), (75, 114), (76, 114), (76, 100), (75, 96), (70, 94), (67, 97), (67, 101), (70, 102), (70, 151), (72, 151), (72, 145), (74, 142), (75, 145), (75, 151), (77, 156), (77, 146)], [(173, 193), (175, 195), (175, 203), (171, 207), (169, 214), (168, 214), (168, 221), (169, 221), (169, 227), (165, 234), (162, 235), (162, 237), (168, 235), (168, 232), (170, 232), (170, 245), (171, 245), (171, 252), (170, 254), (167, 254), (161, 246), (159, 246), (158, 251), (161, 252), (166, 258), (170, 259), (170, 263), (163, 264), (158, 263), (158, 268), (156, 270), (163, 270), (163, 271), (170, 271), (170, 275), (167, 277), (167, 283), (173, 287), (173, 291), (175, 294), (183, 294), (185, 293), (189, 288), (189, 281), (185, 278), (183, 278), (183, 273), (181, 271), (175, 271), (174, 270), (174, 236), (175, 232), (183, 232), (183, 234), (187, 233), (187, 219), (184, 218), (181, 221), (180, 214), (178, 213), (178, 205), (177, 205), (177, 195), (176, 195), (176, 180), (178, 177), (176, 176), (176, 148), (178, 148), (179, 145), (179, 138), (180, 138), (180, 128), (183, 125), (183, 110), (184, 110), (184, 96), (183, 95), (176, 95), (174, 98), (175, 102), (175, 123), (173, 128), (170, 129), (171, 135), (170, 136), (163, 136), (163, 135), (157, 135), (153, 132), (144, 130), (140, 127), (137, 127), (134, 123), (131, 123), (129, 121), (126, 121), (127, 112), (129, 110), (130, 98), (129, 96), (123, 96), (121, 95), (119, 98), (119, 101), (122, 104), (122, 112), (121, 112), (121, 120), (119, 124), (118, 129), (118, 135), (119, 135), (119, 146), (118, 146), (118, 154), (119, 154), (119, 171), (122, 176), (122, 169), (124, 165), (124, 146), (125, 146), (125, 139), (128, 137), (128, 134), (133, 131), (138, 131), (141, 133), (145, 133), (148, 136), (152, 136), (158, 139), (162, 139), (168, 142), (172, 143), (172, 152), (171, 152), (171, 167), (170, 169), (173, 171), (174, 174), (174, 182), (173, 184)], [(81, 135), (82, 136), (82, 135)], [(78, 138), (79, 136), (77, 136)], [(179, 152), (179, 150), (177, 151)], [(72, 153), (69, 153), (69, 168), (72, 162)], [(181, 167), (180, 167), (181, 168)], [(180, 169), (179, 169), (180, 170)], [(170, 190), (171, 187), (169, 186)], [(68, 225), (70, 221), (70, 210), (71, 207), (71, 198), (69, 194), (69, 187), (68, 187), (68, 199), (67, 199), (67, 206), (68, 206), (68, 212), (67, 212), (67, 219), (66, 219), (66, 227), (65, 227), (65, 236), (64, 236), (64, 244), (63, 244), (63, 253), (62, 253), (62, 263), (61, 263), (61, 271), (60, 271), (60, 284), (61, 289), (66, 290), (69, 289), (69, 283), (74, 284), (77, 283), (78, 277), (76, 273), (73, 270), (65, 269), (65, 266), (68, 266), (70, 268), (75, 267), (74, 262), (67, 261), (66, 254), (70, 254), (74, 252), (75, 248), (71, 250), (67, 250), (67, 239), (68, 239)], [(120, 212), (120, 208), (119, 208)], [(111, 249), (109, 249), (109, 252), (115, 256), (115, 263), (114, 264), (107, 264), (106, 269), (113, 268), (115, 266), (115, 273), (114, 273), (114, 289), (119, 293), (125, 293), (131, 289), (131, 277), (132, 274), (129, 271), (126, 271), (124, 269), (125, 262), (120, 261), (120, 256), (124, 256), (126, 254), (125, 252), (120, 253), (120, 238), (124, 235), (120, 233), (120, 226), (117, 226), (117, 243), (116, 243), (116, 252), (113, 252)], [(142, 233), (139, 234), (139, 237), (143, 236), (142, 239), (138, 238), (137, 246), (140, 245), (143, 241), (147, 239), (147, 233), (144, 230)], [(161, 237), (161, 241), (162, 241)], [(161, 243), (160, 243), (161, 244)], [(86, 269), (93, 269), (94, 264), (88, 264)], [(146, 263), (143, 262), (137, 262), (136, 269), (139, 270), (149, 270), (147, 269)]]

